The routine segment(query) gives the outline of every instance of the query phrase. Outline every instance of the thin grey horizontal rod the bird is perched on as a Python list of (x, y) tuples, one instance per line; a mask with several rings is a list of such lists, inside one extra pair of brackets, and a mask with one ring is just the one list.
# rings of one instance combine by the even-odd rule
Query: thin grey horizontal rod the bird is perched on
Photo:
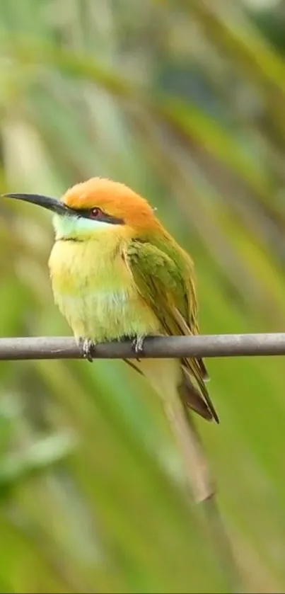
[[(242, 357), (285, 355), (285, 333), (209, 334), (146, 338), (140, 358)], [(0, 360), (80, 359), (82, 349), (74, 338), (38, 336), (0, 338)], [(98, 344), (95, 359), (136, 358), (132, 341)]]

